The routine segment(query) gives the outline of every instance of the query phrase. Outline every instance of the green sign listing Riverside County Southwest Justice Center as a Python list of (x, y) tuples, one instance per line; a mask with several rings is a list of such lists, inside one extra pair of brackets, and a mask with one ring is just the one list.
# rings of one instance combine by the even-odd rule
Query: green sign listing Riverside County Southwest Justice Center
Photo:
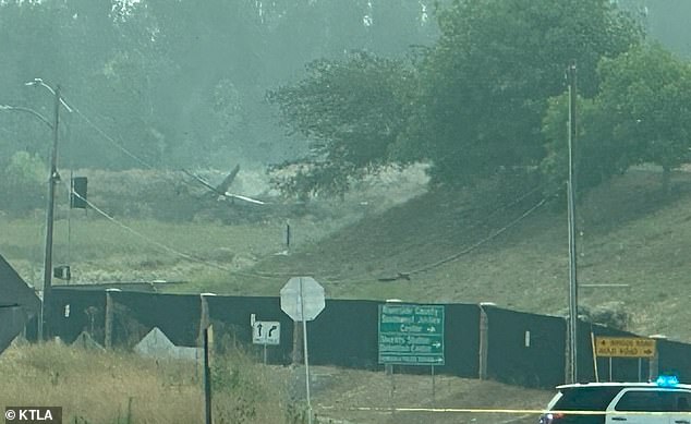
[(379, 305), (379, 363), (444, 365), (444, 306)]

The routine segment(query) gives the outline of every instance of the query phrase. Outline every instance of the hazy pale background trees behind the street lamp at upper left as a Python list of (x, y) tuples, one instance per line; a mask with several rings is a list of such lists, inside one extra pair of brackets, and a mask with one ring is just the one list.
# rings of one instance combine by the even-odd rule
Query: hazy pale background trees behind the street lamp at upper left
[[(306, 147), (275, 124), (266, 89), (316, 58), (341, 59), (352, 49), (392, 54), (431, 41), (437, 26), (423, 22), (423, 12), (409, 0), (4, 0), (0, 104), (50, 116), (47, 93), (24, 83), (43, 77), (62, 86), (99, 130), (63, 113), (70, 136), (60, 145), (61, 166), (279, 161)], [(1, 114), (8, 152), (43, 155), (45, 129)]]

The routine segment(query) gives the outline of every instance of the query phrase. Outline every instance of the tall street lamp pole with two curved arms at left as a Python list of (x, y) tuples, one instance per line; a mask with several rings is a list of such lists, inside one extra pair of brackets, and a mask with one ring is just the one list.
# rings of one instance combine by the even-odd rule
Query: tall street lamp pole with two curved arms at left
[(58, 134), (60, 123), (60, 105), (62, 105), (69, 112), (72, 112), (72, 108), (62, 100), (60, 97), (60, 86), (54, 89), (46, 84), (40, 78), (34, 78), (34, 81), (27, 82), (24, 85), (43, 86), (47, 88), (54, 97), (53, 105), (53, 122), (51, 123), (44, 116), (37, 111), (24, 108), (20, 106), (0, 106), (0, 110), (16, 110), (21, 112), (31, 113), (38, 118), (43, 123), (48, 125), (52, 130), (52, 152), (50, 155), (50, 175), (48, 178), (48, 205), (46, 207), (46, 252), (44, 256), (44, 299), (40, 303), (40, 316), (38, 323), (38, 340), (44, 340), (48, 336), (47, 331), (47, 317), (50, 316), (50, 295), (52, 289), (52, 232), (53, 232), (53, 218), (56, 209), (56, 185), (60, 181), (60, 174), (58, 173)]

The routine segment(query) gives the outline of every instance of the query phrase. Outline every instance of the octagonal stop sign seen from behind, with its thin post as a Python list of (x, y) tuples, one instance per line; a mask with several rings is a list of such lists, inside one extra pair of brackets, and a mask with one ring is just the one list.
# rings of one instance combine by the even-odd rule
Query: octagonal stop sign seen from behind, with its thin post
[(310, 360), (307, 354), (307, 322), (324, 311), (324, 288), (312, 277), (293, 277), (281, 289), (281, 310), (293, 322), (302, 322), (302, 340), (305, 355), (305, 388), (307, 395), (307, 416), (312, 424), (310, 401)]

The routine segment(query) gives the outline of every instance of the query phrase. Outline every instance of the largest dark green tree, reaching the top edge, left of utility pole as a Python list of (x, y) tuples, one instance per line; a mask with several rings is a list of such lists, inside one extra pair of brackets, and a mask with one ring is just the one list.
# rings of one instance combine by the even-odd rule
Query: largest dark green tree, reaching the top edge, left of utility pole
[(566, 66), (577, 61), (581, 93), (592, 97), (599, 59), (642, 37), (608, 0), (456, 0), (439, 26), (398, 147), (432, 159), (437, 181), (460, 184), (538, 163), (542, 118), (563, 92)]

